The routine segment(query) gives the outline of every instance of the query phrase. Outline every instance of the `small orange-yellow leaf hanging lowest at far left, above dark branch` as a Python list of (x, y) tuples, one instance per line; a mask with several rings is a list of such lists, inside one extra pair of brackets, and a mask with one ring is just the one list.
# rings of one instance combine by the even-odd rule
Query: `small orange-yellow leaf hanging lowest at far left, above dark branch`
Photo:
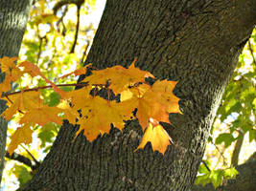
[(18, 127), (17, 130), (11, 136), (11, 143), (8, 146), (8, 152), (12, 155), (13, 151), (21, 143), (29, 144), (32, 142), (33, 131), (30, 128), (30, 124), (25, 124), (22, 127)]

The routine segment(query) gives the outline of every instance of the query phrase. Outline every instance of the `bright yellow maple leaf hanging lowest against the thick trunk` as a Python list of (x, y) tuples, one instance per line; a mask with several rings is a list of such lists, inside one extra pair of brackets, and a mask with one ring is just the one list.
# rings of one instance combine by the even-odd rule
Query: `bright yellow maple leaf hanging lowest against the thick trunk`
[(172, 139), (161, 125), (153, 127), (150, 123), (144, 133), (141, 143), (135, 149), (135, 151), (138, 149), (143, 149), (149, 141), (151, 142), (153, 151), (159, 151), (164, 155)]

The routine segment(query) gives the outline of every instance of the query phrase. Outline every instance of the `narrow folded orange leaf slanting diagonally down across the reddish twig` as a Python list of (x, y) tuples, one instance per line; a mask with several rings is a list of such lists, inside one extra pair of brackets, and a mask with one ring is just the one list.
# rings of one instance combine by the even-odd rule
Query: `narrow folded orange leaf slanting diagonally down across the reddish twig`
[(29, 61), (24, 61), (19, 64), (19, 67), (24, 67), (25, 68), (24, 73), (31, 74), (31, 76), (33, 76), (33, 77), (35, 77), (36, 75), (40, 75), (42, 78), (44, 78), (44, 80), (47, 83), (52, 85), (52, 87), (56, 93), (58, 93), (61, 97), (65, 96), (65, 92), (60, 90), (55, 83), (53, 83), (44, 74), (42, 74), (40, 72), (40, 69), (35, 64), (33, 64)]

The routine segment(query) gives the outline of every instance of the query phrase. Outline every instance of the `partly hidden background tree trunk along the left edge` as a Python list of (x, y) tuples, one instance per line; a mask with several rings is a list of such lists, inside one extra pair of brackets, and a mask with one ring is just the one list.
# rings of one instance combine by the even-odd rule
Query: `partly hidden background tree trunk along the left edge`
[[(0, 1), (0, 57), (17, 56), (26, 29), (32, 0), (1, 0)], [(0, 71), (0, 82), (4, 74)], [(1, 92), (1, 91), (0, 91)], [(0, 99), (0, 114), (6, 104)], [(4, 168), (4, 156), (7, 136), (7, 122), (0, 117), (0, 182)]]

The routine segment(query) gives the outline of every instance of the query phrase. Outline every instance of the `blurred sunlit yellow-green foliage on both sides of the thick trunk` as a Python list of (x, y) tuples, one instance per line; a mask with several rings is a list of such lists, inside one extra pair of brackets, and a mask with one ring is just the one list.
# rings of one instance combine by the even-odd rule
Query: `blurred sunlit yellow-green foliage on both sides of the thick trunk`
[[(35, 63), (45, 76), (57, 84), (76, 83), (77, 78), (62, 79), (59, 76), (81, 68), (104, 7), (105, 0), (35, 0), (19, 53), (20, 59)], [(217, 187), (225, 180), (235, 178), (238, 174), (235, 166), (244, 163), (256, 151), (255, 57), (256, 30), (246, 43), (222, 97), (196, 184), (212, 182)], [(27, 87), (30, 82), (34, 87), (46, 85), (39, 77), (32, 80), (26, 75), (17, 82), (19, 86), (14, 84), (14, 88)], [(64, 91), (71, 89), (63, 87)], [(56, 93), (41, 91), (46, 104), (58, 104)], [(15, 118), (10, 123), (8, 144), (17, 128)], [(33, 143), (19, 146), (13, 154), (15, 159), (13, 156), (6, 158), (2, 190), (15, 190), (32, 178), (58, 135), (59, 125), (48, 123), (33, 128)]]

